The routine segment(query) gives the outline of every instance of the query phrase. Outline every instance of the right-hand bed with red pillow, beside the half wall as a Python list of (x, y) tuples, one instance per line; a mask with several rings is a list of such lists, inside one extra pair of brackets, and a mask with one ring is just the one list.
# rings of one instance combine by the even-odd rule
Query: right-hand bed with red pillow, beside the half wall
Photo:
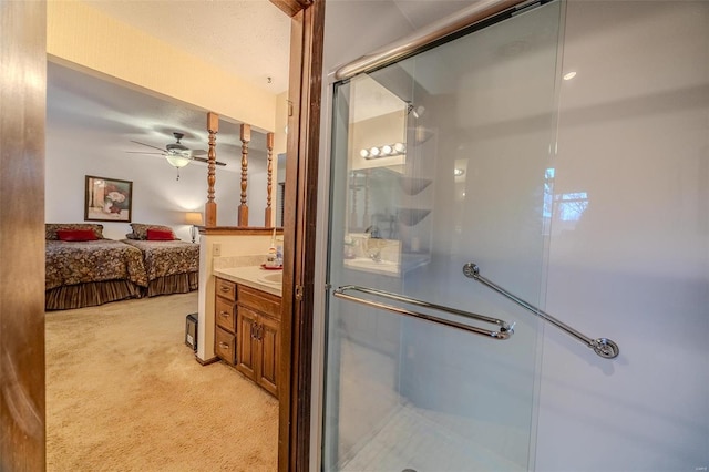
[(123, 243), (140, 249), (147, 275), (143, 295), (186, 294), (199, 286), (199, 245), (175, 237), (162, 225), (132, 223)]

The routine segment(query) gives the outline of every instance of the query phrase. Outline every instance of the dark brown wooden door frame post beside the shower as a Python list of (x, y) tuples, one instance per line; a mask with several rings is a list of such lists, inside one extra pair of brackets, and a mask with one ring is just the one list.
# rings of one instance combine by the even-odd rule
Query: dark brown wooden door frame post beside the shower
[(310, 452), (312, 317), (325, 0), (270, 0), (291, 18), (278, 470)]

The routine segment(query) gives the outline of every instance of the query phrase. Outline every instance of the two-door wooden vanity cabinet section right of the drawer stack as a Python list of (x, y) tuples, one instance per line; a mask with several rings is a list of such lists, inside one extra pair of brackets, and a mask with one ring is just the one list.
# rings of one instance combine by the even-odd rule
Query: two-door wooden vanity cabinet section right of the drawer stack
[(280, 297), (237, 285), (236, 368), (278, 396)]

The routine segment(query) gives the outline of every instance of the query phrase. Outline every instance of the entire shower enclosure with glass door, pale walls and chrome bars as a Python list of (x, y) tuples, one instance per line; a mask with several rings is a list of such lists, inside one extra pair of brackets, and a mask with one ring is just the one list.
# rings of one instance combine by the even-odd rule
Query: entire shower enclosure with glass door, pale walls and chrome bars
[(314, 454), (707, 470), (709, 3), (510, 3), (335, 73)]

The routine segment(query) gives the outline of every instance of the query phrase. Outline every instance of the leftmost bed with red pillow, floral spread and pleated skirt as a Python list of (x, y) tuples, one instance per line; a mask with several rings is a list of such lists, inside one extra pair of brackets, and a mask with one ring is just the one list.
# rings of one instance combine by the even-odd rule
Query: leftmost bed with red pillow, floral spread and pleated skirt
[(45, 225), (47, 310), (140, 298), (147, 288), (141, 252), (103, 238), (103, 225)]

